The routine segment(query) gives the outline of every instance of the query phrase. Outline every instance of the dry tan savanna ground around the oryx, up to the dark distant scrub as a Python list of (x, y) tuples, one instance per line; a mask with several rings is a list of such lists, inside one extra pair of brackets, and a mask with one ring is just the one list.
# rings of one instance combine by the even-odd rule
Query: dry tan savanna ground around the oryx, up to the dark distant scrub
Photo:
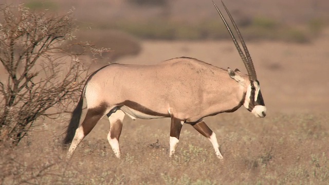
[[(154, 64), (186, 56), (246, 71), (231, 41), (139, 42), (131, 50), (137, 55), (112, 57), (119, 63)], [(247, 45), (267, 116), (257, 119), (241, 107), (205, 118), (217, 134), (223, 160), (190, 125), (183, 126), (177, 153), (169, 158), (170, 120), (128, 117), (121, 159), (107, 143), (109, 124), (103, 118), (66, 160), (61, 134), (69, 115), (63, 114), (38, 120), (19, 146), (0, 146), (0, 184), (328, 184), (329, 30), (305, 44)], [(92, 70), (101, 65), (92, 63)]]

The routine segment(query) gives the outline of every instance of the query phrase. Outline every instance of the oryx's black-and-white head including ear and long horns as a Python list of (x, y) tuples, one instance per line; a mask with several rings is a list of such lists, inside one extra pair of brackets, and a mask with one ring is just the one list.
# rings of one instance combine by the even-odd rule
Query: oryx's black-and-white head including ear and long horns
[(245, 78), (243, 78), (240, 75), (240, 71), (235, 69), (235, 71), (232, 71), (230, 68), (228, 68), (228, 73), (229, 76), (234, 79), (235, 81), (239, 82), (242, 86), (244, 86), (245, 88), (245, 99), (244, 99), (244, 103), (243, 105), (251, 112), (253, 113), (256, 117), (258, 118), (264, 118), (266, 116), (266, 107), (265, 107), (265, 103), (262, 97), (262, 93), (261, 93), (261, 88), (259, 85), (259, 81), (257, 80), (257, 76), (256, 76), (256, 71), (255, 68), (253, 66), (248, 48), (242, 38), (242, 35), (239, 31), (239, 28), (237, 28), (230, 12), (228, 11), (228, 9), (226, 8), (225, 4), (222, 2), (228, 16), (230, 17), (230, 20), (233, 24), (233, 27), (235, 28), (235, 31), (237, 33), (237, 35), (239, 36), (239, 40), (242, 44), (242, 47), (244, 49), (244, 52), (242, 51), (242, 49), (240, 48), (240, 45), (237, 43), (230, 27), (228, 26), (224, 16), (222, 15), (220, 9), (218, 9), (218, 7), (216, 6), (216, 4), (213, 2), (217, 12), (220, 14), (228, 32), (231, 35), (231, 38), (234, 42), (234, 45), (237, 49), (237, 51), (240, 54), (240, 57), (243, 61), (243, 63), (245, 64), (245, 67), (248, 71), (248, 76), (249, 79), (245, 80)]

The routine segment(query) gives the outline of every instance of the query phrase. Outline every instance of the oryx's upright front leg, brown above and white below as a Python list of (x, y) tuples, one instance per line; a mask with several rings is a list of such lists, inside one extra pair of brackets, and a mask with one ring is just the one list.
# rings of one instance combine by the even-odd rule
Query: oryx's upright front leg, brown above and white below
[(184, 121), (175, 118), (172, 114), (171, 115), (171, 125), (170, 125), (170, 153), (169, 156), (171, 157), (175, 151), (177, 144), (179, 142), (179, 135), (181, 131), (181, 127), (184, 124)]

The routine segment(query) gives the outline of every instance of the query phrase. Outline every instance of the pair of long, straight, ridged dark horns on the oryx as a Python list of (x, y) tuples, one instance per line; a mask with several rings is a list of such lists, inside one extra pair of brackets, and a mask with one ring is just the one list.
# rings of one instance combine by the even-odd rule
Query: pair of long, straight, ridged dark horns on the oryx
[(236, 26), (236, 24), (235, 24), (235, 22), (234, 22), (234, 20), (233, 20), (233, 17), (231, 16), (230, 12), (228, 11), (228, 9), (226, 8), (224, 2), (222, 1), (222, 4), (223, 4), (223, 6), (224, 6), (224, 8), (225, 8), (225, 10), (226, 10), (226, 12), (227, 12), (227, 14), (228, 14), (228, 16), (230, 17), (230, 20), (231, 20), (231, 22), (232, 22), (234, 28), (235, 28), (235, 31), (237, 32), (237, 35), (239, 36), (240, 42), (241, 42), (241, 44), (242, 44), (242, 47), (243, 47), (243, 49), (244, 49), (244, 51), (245, 51), (247, 57), (246, 57), (245, 54), (243, 53), (243, 51), (242, 51), (242, 49), (240, 48), (239, 44), (236, 42), (235, 36), (234, 36), (234, 34), (232, 33), (230, 27), (228, 26), (228, 24), (227, 24), (227, 22), (226, 22), (226, 20), (225, 20), (225, 18), (224, 18), (224, 16), (223, 16), (223, 14), (221, 13), (220, 9), (218, 9), (218, 7), (216, 6), (216, 4), (215, 4), (214, 2), (212, 2), (212, 3), (214, 4), (214, 6), (215, 6), (215, 8), (216, 8), (216, 10), (217, 10), (217, 12), (218, 12), (218, 14), (220, 14), (220, 16), (221, 16), (221, 18), (222, 18), (222, 20), (223, 20), (223, 22), (224, 22), (224, 24), (225, 24), (225, 26), (226, 26), (228, 32), (229, 32), (230, 35), (231, 35), (231, 38), (232, 38), (232, 40), (233, 40), (233, 43), (234, 43), (234, 45), (235, 45), (237, 51), (239, 52), (240, 57), (241, 57), (243, 63), (245, 64), (245, 67), (246, 67), (247, 72), (248, 72), (248, 75), (249, 75), (249, 80), (257, 80), (256, 71), (255, 71), (255, 68), (254, 68), (254, 66), (253, 66), (253, 63), (252, 63), (252, 60), (251, 60), (251, 57), (250, 57), (250, 54), (249, 54), (248, 48), (247, 48), (246, 43), (244, 42), (244, 40), (243, 40), (243, 38), (242, 38), (242, 35), (241, 35), (241, 33), (240, 33), (239, 28), (237, 28), (237, 26)]

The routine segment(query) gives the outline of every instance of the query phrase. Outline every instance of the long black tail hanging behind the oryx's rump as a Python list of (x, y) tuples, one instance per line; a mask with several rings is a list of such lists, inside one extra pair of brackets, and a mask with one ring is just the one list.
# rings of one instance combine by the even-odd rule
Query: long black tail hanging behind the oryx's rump
[(72, 112), (70, 123), (68, 124), (67, 130), (65, 132), (66, 136), (63, 140), (64, 146), (71, 143), (74, 138), (74, 135), (76, 134), (76, 130), (79, 127), (79, 122), (81, 118), (82, 105), (83, 105), (83, 96), (81, 96), (77, 107)]

